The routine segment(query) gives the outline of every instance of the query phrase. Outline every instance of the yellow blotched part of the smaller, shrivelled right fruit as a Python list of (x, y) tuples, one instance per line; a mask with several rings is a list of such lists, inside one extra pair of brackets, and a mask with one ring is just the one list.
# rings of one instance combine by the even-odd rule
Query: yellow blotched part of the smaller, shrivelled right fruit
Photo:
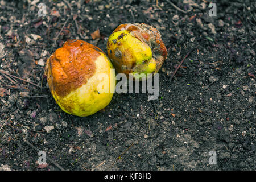
[(141, 74), (152, 73), (156, 69), (151, 48), (127, 30), (110, 35), (107, 49), (108, 56), (118, 72), (132, 69), (131, 73)]

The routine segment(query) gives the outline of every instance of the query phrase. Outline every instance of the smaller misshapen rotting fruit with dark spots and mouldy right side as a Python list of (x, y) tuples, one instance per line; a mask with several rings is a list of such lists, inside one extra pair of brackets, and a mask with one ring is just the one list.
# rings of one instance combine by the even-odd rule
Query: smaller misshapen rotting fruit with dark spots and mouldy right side
[[(109, 36), (108, 57), (119, 73), (157, 73), (167, 57), (166, 46), (156, 28), (144, 23), (121, 24)], [(135, 74), (135, 73), (138, 73)]]

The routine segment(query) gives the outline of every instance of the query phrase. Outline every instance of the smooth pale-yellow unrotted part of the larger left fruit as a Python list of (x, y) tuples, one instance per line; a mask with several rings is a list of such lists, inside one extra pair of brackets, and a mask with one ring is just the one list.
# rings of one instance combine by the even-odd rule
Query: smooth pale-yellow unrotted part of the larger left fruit
[[(82, 85), (65, 97), (59, 97), (54, 90), (51, 90), (57, 104), (66, 113), (85, 117), (104, 109), (112, 100), (115, 88), (115, 73), (110, 68), (113, 68), (113, 65), (103, 53), (101, 53), (101, 56), (97, 58), (95, 63), (96, 72), (88, 79), (85, 85)], [(108, 85), (104, 85), (104, 81)], [(106, 86), (108, 88), (107, 92), (98, 92), (99, 85)], [(72, 112), (65, 110), (65, 105), (71, 106)]]

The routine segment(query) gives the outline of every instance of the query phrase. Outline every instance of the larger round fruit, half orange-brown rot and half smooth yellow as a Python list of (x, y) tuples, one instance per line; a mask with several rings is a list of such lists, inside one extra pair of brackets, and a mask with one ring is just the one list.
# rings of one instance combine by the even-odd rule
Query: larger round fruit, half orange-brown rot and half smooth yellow
[[(104, 109), (112, 100), (115, 73), (100, 48), (82, 40), (68, 40), (47, 60), (47, 76), (53, 98), (66, 113), (85, 117)], [(99, 93), (98, 85), (108, 76), (109, 92)], [(104, 84), (102, 84), (104, 85)]]

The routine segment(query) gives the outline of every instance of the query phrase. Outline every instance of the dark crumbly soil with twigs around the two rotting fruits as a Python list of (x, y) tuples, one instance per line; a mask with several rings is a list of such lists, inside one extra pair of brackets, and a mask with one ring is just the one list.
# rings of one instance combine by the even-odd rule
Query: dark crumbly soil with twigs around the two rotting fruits
[[(172, 1), (187, 13), (165, 0), (72, 1), (72, 11), (62, 1), (40, 1), (44, 17), (39, 1), (31, 2), (0, 1), (0, 69), (38, 85), (0, 73), (1, 169), (59, 170), (48, 159), (39, 166), (24, 138), (69, 170), (256, 169), (255, 1), (215, 1), (216, 17), (201, 0)], [(168, 49), (158, 100), (114, 94), (90, 117), (61, 111), (44, 77), (40, 88), (51, 53), (68, 39), (106, 52), (111, 32), (135, 22), (158, 28)], [(208, 163), (210, 151), (216, 165)]]

